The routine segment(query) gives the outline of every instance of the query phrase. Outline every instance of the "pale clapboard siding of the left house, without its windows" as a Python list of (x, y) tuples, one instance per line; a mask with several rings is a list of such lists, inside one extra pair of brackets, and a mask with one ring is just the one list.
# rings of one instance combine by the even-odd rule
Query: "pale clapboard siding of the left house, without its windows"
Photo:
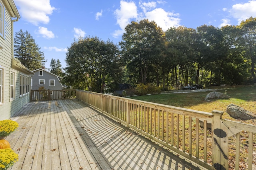
[[(7, 1), (6, 1), (7, 2)], [(12, 18), (5, 8), (4, 11), (4, 36), (0, 36), (0, 68), (3, 69), (3, 104), (0, 104), (0, 120), (9, 119), (17, 111), (29, 102), (29, 94), (20, 96), (19, 79), (20, 73), (25, 74), (25, 70), (12, 68)], [(14, 99), (10, 99), (10, 72), (14, 72)]]

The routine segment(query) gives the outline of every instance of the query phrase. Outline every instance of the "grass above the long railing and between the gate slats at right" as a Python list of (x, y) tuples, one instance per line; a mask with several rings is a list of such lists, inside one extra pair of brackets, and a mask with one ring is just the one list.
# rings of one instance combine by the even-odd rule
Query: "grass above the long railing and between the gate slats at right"
[[(215, 89), (216, 88), (216, 89)], [(213, 91), (218, 91), (222, 93), (226, 93), (231, 98), (229, 99), (219, 99), (219, 100), (211, 100), (206, 101), (206, 95), (208, 92), (194, 92), (191, 93), (174, 93), (174, 92), (184, 92), (183, 90), (172, 90), (168, 91), (165, 94), (154, 94), (154, 95), (146, 95), (146, 96), (133, 96), (130, 98), (136, 100), (143, 100), (147, 102), (154, 102), (159, 104), (166, 104), (170, 106), (183, 107), (188, 109), (194, 109), (198, 111), (206, 111), (211, 112), (212, 110), (220, 110), (224, 111), (222, 118), (229, 119), (232, 121), (239, 121), (246, 124), (256, 125), (255, 119), (250, 119), (246, 121), (242, 121), (239, 119), (234, 119), (226, 113), (226, 107), (229, 104), (235, 104), (240, 106), (254, 114), (256, 114), (256, 86), (224, 86), (224, 87), (214, 87)], [(248, 143), (246, 142), (247, 133), (242, 132), (240, 136), (240, 149), (244, 151), (240, 151), (240, 168), (246, 169), (248, 167), (246, 159), (248, 158)], [(229, 165), (230, 169), (234, 168), (235, 162), (235, 137), (230, 137), (230, 151), (229, 151)], [(256, 154), (256, 135), (254, 134), (254, 153)], [(203, 147), (203, 146), (202, 146)], [(256, 158), (253, 159), (253, 164), (256, 162)]]

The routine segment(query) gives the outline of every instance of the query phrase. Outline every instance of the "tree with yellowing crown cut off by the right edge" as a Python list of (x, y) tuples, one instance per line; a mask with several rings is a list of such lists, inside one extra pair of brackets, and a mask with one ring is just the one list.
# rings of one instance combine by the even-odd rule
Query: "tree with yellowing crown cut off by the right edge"
[(244, 50), (244, 56), (251, 60), (251, 74), (256, 83), (256, 18), (250, 17), (242, 21), (240, 29), (240, 46)]

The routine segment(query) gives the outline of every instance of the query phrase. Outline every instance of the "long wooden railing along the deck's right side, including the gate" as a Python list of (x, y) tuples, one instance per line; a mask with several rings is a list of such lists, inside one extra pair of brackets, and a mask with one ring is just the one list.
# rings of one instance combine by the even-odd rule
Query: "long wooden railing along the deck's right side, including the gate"
[[(230, 168), (228, 160), (232, 156), (229, 156), (229, 147), (234, 136), (237, 150), (235, 169), (239, 169), (240, 162), (246, 161), (239, 157), (240, 132), (247, 131), (248, 149), (244, 152), (248, 153), (248, 160), (245, 164), (249, 170), (253, 168), (256, 126), (224, 120), (223, 111), (207, 113), (82, 90), (76, 91), (76, 98), (172, 150), (177, 156), (188, 158), (209, 170)], [(245, 138), (243, 135), (242, 140), (247, 140)]]

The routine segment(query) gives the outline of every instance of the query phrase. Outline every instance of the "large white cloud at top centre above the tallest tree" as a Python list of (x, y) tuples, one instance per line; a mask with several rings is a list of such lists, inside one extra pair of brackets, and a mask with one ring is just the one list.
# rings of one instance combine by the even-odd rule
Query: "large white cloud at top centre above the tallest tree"
[[(157, 3), (156, 3), (157, 2)], [(114, 15), (116, 16), (116, 22), (121, 29), (114, 31), (112, 33), (113, 37), (118, 37), (124, 33), (124, 28), (127, 24), (130, 24), (132, 20), (140, 21), (143, 19), (148, 19), (150, 21), (154, 20), (156, 24), (164, 31), (170, 27), (176, 27), (180, 25), (179, 14), (174, 14), (173, 12), (166, 12), (162, 8), (156, 8), (157, 4), (164, 4), (165, 1), (151, 1), (142, 2), (139, 1), (139, 7), (142, 12), (138, 12), (138, 8), (135, 2), (126, 2), (124, 0), (120, 1), (120, 9), (115, 10)]]

